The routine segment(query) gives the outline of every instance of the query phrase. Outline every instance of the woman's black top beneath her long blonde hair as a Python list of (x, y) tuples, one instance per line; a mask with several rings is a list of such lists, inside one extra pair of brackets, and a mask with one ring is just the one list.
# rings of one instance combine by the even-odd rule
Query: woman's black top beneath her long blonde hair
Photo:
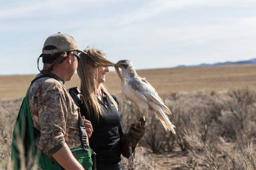
[[(116, 97), (113, 96), (116, 100)], [(97, 169), (119, 169), (121, 160), (120, 138), (123, 135), (121, 117), (108, 98), (103, 96), (103, 101), (98, 99), (102, 109), (102, 116), (96, 118), (95, 113), (88, 113), (84, 107), (81, 108), (81, 115), (90, 120), (93, 126), (93, 134), (89, 138), (90, 147), (96, 153)], [(119, 164), (118, 164), (119, 163)]]

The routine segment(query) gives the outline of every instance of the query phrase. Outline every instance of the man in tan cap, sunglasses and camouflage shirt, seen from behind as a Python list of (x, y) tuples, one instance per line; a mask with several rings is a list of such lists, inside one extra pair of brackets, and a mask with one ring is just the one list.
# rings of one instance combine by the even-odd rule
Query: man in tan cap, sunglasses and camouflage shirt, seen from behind
[[(41, 73), (32, 81), (15, 125), (12, 143), (14, 164), (19, 164), (18, 166), (23, 164), (20, 160), (15, 162), (15, 157), (17, 157), (15, 153), (18, 152), (17, 142), (19, 138), (22, 138), (25, 145), (25, 164), (27, 166), (29, 164), (28, 150), (32, 148), (30, 149), (33, 152), (32, 155), (39, 155), (37, 156), (39, 159), (38, 166), (41, 169), (53, 168), (46, 167), (49, 164), (45, 163), (47, 158), (54, 167), (57, 162), (65, 169), (85, 168), (80, 164), (84, 162), (83, 158), (79, 160), (79, 163), (73, 156), (71, 148), (82, 145), (82, 148), (88, 150), (87, 135), (90, 137), (93, 129), (88, 120), (84, 120), (84, 117), (81, 120), (79, 109), (65, 87), (65, 82), (70, 81), (75, 73), (79, 61), (78, 53), (81, 52), (77, 48), (75, 39), (68, 34), (57, 33), (46, 39), (40, 55), (44, 68), (39, 70)], [(28, 105), (27, 108), (25, 105)], [(23, 113), (23, 110), (26, 109), (30, 114), (26, 114), (26, 111)], [(25, 118), (23, 118), (24, 115)], [(33, 128), (28, 128), (31, 126), (29, 124), (30, 115)], [(26, 123), (19, 124), (20, 119), (25, 119)], [(85, 128), (81, 122), (84, 122)], [(85, 130), (87, 133), (84, 133)], [(33, 138), (29, 132), (32, 132)], [(33, 149), (33, 145), (36, 149)], [(46, 159), (42, 160), (42, 158)], [(89, 159), (91, 159), (90, 154)], [(49, 160), (47, 161), (49, 162)], [(87, 165), (87, 168), (90, 168), (89, 166), (91, 165)]]

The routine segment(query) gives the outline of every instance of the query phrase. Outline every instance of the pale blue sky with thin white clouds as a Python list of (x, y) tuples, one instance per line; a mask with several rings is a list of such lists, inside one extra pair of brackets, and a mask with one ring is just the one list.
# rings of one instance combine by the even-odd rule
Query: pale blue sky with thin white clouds
[(256, 0), (1, 0), (0, 75), (36, 74), (57, 32), (136, 69), (256, 58), (255, 9)]

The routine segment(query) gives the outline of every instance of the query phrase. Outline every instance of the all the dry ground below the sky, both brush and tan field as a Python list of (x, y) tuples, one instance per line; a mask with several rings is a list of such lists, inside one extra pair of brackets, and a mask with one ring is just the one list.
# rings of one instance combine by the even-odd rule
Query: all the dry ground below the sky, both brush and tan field
[[(149, 113), (135, 169), (256, 169), (256, 65), (138, 70), (173, 112), (176, 135)], [(35, 75), (0, 76), (0, 170), (10, 169), (10, 143), (22, 98)], [(123, 99), (115, 72), (106, 86), (118, 95), (124, 130), (138, 110)], [(67, 87), (79, 86), (74, 76)], [(127, 160), (122, 159), (123, 169)]]

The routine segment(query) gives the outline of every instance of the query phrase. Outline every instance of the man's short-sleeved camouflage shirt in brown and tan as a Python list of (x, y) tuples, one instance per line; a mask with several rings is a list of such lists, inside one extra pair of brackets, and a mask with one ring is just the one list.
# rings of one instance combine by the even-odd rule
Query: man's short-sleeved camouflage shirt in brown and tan
[(29, 90), (33, 126), (40, 131), (35, 145), (49, 158), (65, 142), (69, 147), (81, 145), (78, 107), (63, 83), (52, 78), (40, 78)]

